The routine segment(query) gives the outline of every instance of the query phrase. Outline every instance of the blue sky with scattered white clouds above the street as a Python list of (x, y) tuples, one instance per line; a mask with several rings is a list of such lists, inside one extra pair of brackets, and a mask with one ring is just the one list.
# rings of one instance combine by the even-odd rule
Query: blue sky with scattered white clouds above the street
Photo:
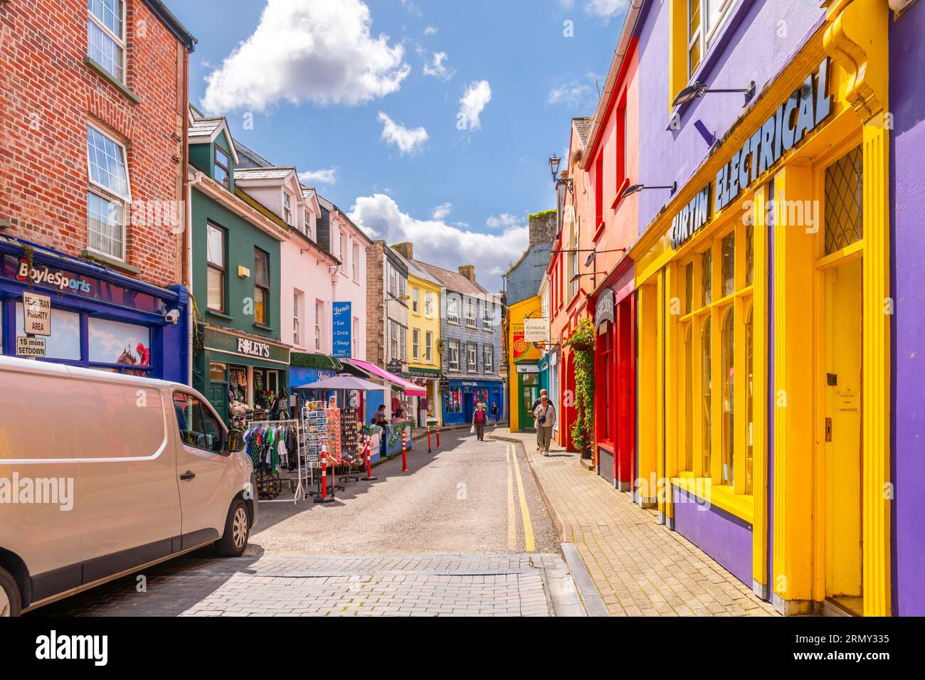
[(553, 206), (546, 160), (563, 155), (571, 117), (593, 115), (625, 6), (168, 4), (199, 40), (193, 103), (277, 165), (316, 173), (305, 183), (374, 236), (411, 240), (439, 266), (475, 264), (491, 290), (526, 247), (527, 214)]

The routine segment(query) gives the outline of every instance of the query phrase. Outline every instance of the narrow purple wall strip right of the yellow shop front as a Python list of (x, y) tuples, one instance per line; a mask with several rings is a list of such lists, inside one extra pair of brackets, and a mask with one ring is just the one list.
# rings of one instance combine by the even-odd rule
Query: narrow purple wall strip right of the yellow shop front
[(890, 21), (893, 319), (894, 613), (925, 615), (925, 2)]

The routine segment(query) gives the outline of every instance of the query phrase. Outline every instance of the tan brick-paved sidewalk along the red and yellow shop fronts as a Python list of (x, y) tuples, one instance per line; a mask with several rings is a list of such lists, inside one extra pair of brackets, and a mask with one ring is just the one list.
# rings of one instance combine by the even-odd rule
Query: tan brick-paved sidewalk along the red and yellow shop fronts
[(574, 543), (611, 616), (774, 616), (768, 602), (703, 550), (658, 523), (654, 511), (559, 448), (536, 453), (536, 435), (491, 430), (524, 445), (562, 542)]

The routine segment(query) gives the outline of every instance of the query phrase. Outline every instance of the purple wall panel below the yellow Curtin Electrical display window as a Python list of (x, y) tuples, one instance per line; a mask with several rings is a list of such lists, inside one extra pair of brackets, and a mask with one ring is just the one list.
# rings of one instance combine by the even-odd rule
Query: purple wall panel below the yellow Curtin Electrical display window
[(674, 530), (752, 587), (751, 525), (717, 507), (698, 505), (686, 491), (672, 488)]

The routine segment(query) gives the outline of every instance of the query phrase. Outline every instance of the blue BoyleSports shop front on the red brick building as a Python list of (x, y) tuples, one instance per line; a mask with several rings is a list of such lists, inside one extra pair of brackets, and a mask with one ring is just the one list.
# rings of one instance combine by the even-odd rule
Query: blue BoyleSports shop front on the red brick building
[(38, 361), (189, 383), (188, 297), (182, 286), (157, 288), (105, 266), (0, 238), (0, 347), (8, 356), (16, 356), (18, 339), (26, 338), (23, 293), (41, 301), (50, 333), (34, 336), (41, 347), (32, 354)]

